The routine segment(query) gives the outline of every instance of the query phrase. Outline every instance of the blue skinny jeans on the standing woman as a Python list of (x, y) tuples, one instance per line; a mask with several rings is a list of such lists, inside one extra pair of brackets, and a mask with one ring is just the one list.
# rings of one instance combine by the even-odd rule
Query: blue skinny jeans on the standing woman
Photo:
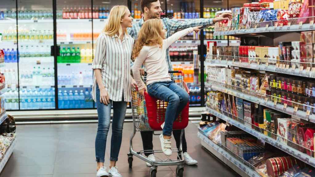
[[(123, 100), (123, 99), (122, 99)], [(112, 101), (105, 105), (100, 102), (100, 88), (96, 85), (96, 106), (98, 114), (98, 128), (95, 139), (95, 156), (96, 162), (105, 162), (105, 149), (107, 134), (111, 123), (111, 108), (113, 106), (114, 114), (112, 121), (112, 139), (111, 139), (111, 161), (118, 161), (118, 154), (120, 151), (123, 122), (125, 120), (127, 102)]]

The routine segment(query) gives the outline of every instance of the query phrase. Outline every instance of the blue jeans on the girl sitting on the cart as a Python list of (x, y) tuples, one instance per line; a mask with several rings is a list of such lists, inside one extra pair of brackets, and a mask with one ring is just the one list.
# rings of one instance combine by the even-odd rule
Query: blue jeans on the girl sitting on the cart
[(148, 93), (159, 100), (167, 101), (163, 135), (171, 136), (173, 123), (189, 101), (188, 93), (173, 81), (151, 83)]

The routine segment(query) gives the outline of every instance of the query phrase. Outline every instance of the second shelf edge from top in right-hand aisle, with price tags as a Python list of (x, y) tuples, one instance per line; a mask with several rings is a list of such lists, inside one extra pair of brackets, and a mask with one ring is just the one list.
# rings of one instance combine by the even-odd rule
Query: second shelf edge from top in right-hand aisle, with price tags
[[(313, 63), (298, 63), (298, 62), (290, 62), (290, 61), (285, 61), (286, 63), (289, 63), (289, 65), (293, 64), (299, 64), (299, 65), (307, 65), (310, 66), (309, 70), (307, 71), (307, 68), (305, 70), (301, 70), (301, 68), (289, 68), (289, 67), (278, 67), (275, 65), (276, 61), (271, 61), (270, 64), (261, 64), (262, 62), (259, 62), (258, 60), (266, 60), (268, 59), (255, 59), (257, 61), (251, 62), (251, 63), (245, 63), (245, 62), (238, 62), (237, 60), (226, 60), (226, 57), (232, 57), (232, 56), (223, 56), (223, 55), (216, 55), (216, 58), (218, 59), (206, 59), (207, 63), (211, 64), (220, 64), (224, 66), (236, 66), (236, 67), (242, 67), (242, 68), (249, 68), (249, 69), (255, 69), (255, 70), (261, 70), (261, 71), (270, 71), (270, 72), (276, 72), (276, 73), (281, 73), (281, 74), (289, 74), (293, 76), (301, 76), (301, 77), (310, 77), (310, 78), (315, 78), (315, 70), (312, 71), (311, 66)], [(219, 59), (220, 58), (220, 59)], [(237, 57), (240, 58), (240, 57)], [(249, 59), (246, 57), (241, 57), (244, 59)], [(280, 62), (280, 60), (278, 60)]]

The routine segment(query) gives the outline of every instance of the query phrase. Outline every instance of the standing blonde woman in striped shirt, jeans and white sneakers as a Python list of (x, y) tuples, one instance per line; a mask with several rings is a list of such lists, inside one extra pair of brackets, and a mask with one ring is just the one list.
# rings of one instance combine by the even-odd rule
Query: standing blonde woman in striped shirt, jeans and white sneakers
[[(134, 39), (127, 33), (132, 26), (130, 11), (126, 6), (114, 6), (108, 22), (97, 38), (93, 61), (94, 83), (92, 96), (97, 106), (98, 129), (95, 140), (97, 162), (96, 177), (122, 177), (116, 167), (120, 151), (123, 122), (127, 102), (131, 101), (131, 87), (135, 80), (130, 74), (130, 59)], [(112, 139), (108, 173), (105, 162), (107, 133), (113, 106)]]

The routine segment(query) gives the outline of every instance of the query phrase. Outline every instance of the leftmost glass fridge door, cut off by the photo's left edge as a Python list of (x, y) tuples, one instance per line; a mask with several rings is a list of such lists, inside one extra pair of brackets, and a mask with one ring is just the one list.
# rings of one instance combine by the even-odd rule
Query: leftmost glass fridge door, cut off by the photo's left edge
[(16, 2), (4, 1), (0, 7), (0, 49), (5, 56), (4, 63), (0, 63), (0, 74), (4, 73), (5, 88), (0, 88), (0, 94), (4, 94), (7, 110), (19, 109), (16, 32)]

